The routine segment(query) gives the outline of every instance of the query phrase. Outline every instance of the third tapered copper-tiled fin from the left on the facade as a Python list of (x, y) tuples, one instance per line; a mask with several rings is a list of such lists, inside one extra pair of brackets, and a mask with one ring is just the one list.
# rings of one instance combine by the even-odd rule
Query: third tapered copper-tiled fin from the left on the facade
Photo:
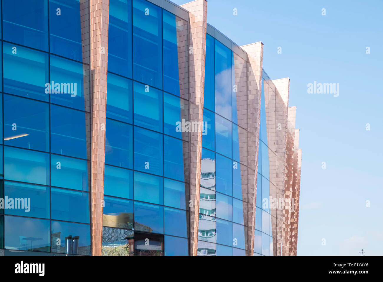
[[(247, 202), (244, 204), (244, 222), (247, 225), (245, 232), (246, 255), (252, 256), (254, 252), (255, 197), (257, 195), (263, 43), (252, 43), (241, 46), (241, 48), (247, 52), (247, 149), (244, 148), (246, 138), (243, 134), (239, 137), (239, 147), (240, 152), (247, 150), (248, 167), (247, 175), (242, 175), (242, 198)], [(237, 107), (239, 117), (242, 117), (244, 105), (240, 103)], [(238, 122), (240, 120), (242, 118)]]

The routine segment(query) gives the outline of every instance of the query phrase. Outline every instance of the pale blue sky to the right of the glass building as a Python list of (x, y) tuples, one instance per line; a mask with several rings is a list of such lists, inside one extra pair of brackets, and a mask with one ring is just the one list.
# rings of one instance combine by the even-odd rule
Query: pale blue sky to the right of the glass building
[[(383, 255), (382, 14), (381, 0), (208, 0), (208, 23), (240, 46), (262, 41), (270, 78), (290, 78), (303, 149), (298, 255)], [(314, 81), (339, 83), (339, 97), (308, 94)]]

